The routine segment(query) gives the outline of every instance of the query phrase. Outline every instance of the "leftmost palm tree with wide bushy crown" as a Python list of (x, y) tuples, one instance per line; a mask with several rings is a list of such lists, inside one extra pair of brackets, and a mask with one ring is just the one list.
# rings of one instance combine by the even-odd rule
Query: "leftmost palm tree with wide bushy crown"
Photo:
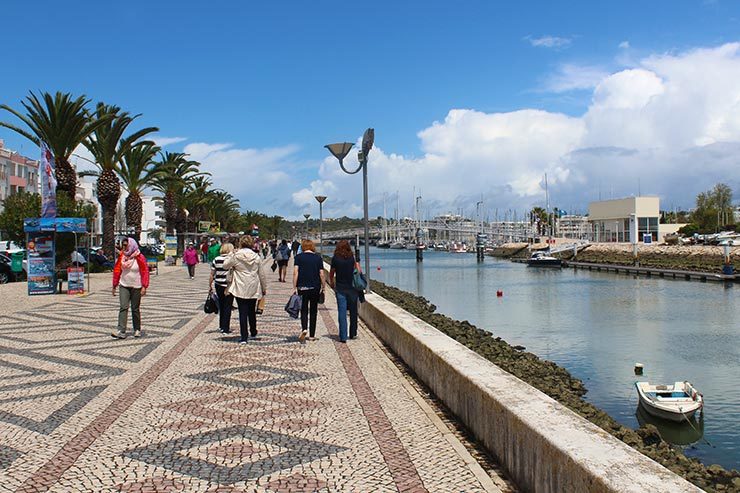
[[(57, 92), (54, 96), (41, 93), (41, 100), (30, 92), (21, 104), (26, 114), (3, 104), (0, 109), (8, 111), (26, 124), (29, 130), (0, 122), (0, 127), (18, 132), (28, 140), (41, 146), (45, 142), (56, 164), (57, 191), (66, 193), (74, 200), (77, 176), (69, 158), (74, 150), (100, 126), (105, 119), (93, 118), (87, 111), (90, 102), (85, 96), (74, 99), (69, 93)], [(109, 117), (108, 117), (109, 118)]]

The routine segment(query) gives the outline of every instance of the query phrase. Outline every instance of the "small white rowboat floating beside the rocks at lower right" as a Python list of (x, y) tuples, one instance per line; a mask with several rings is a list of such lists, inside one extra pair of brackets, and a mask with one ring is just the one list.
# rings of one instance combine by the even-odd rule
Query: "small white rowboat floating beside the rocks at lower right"
[(673, 385), (635, 382), (635, 387), (640, 404), (657, 418), (681, 422), (691, 419), (704, 406), (704, 398), (689, 382), (676, 382)]

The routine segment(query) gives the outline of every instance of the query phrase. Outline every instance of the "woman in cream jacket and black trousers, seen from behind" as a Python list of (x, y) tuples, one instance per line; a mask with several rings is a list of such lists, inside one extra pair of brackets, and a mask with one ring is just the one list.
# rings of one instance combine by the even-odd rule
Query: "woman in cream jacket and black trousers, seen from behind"
[(231, 272), (231, 282), (227, 293), (234, 295), (239, 307), (240, 344), (247, 343), (247, 328), (252, 337), (257, 337), (257, 299), (267, 294), (265, 274), (262, 272), (262, 258), (252, 250), (254, 239), (242, 236), (239, 250), (224, 260), (224, 269)]

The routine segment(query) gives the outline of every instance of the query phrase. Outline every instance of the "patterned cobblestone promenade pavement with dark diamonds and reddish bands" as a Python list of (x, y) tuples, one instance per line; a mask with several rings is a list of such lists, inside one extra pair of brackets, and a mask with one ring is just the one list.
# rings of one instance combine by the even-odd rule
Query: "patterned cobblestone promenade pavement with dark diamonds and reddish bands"
[(272, 282), (240, 346), (206, 279), (152, 277), (140, 339), (102, 290), (0, 308), (0, 491), (500, 491), (372, 334), (337, 340), (333, 296), (301, 344)]

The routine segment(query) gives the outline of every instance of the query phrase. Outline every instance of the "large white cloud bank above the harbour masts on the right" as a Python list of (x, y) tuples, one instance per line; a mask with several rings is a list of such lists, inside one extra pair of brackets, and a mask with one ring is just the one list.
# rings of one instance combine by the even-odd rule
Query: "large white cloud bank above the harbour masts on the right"
[[(401, 213), (408, 214), (412, 187), (432, 212), (463, 207), (471, 213), (481, 197), (491, 211), (522, 211), (544, 203), (544, 173), (551, 204), (567, 210), (585, 210), (599, 188), (602, 197), (635, 194), (638, 180), (665, 207), (690, 207), (718, 181), (740, 189), (740, 43), (654, 55), (619, 71), (566, 72), (571, 81), (552, 90), (590, 88), (582, 115), (453, 109), (418, 133), (420, 156), (373, 149), (371, 215), (382, 212), (383, 193), (396, 190), (405, 197)], [(380, 145), (382, 135), (377, 129)], [(348, 167), (356, 165), (350, 158)], [(315, 213), (313, 195), (321, 191), (329, 195), (325, 214), (357, 216), (361, 187), (359, 175), (343, 173), (327, 157), (318, 179), (296, 188), (292, 205)], [(390, 214), (395, 204), (389, 205)]]

